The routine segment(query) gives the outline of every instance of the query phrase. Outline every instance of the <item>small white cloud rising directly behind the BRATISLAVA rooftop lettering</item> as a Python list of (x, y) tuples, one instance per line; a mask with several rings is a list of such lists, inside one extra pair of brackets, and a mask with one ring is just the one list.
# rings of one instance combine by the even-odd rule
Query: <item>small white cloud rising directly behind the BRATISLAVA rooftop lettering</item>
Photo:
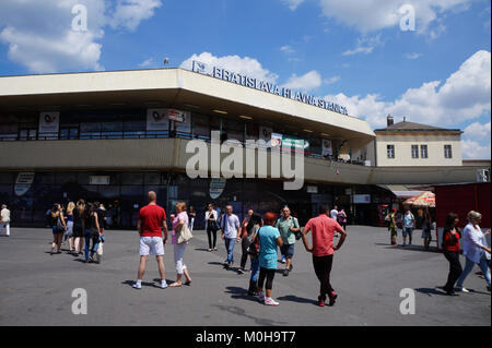
[(276, 83), (277, 80), (279, 79), (277, 74), (270, 72), (267, 69), (263, 69), (258, 60), (249, 57), (244, 58), (241, 58), (239, 56), (215, 57), (209, 52), (202, 52), (197, 56), (195, 53), (190, 58), (185, 60), (180, 64), (180, 68), (191, 70), (194, 60), (271, 83)]

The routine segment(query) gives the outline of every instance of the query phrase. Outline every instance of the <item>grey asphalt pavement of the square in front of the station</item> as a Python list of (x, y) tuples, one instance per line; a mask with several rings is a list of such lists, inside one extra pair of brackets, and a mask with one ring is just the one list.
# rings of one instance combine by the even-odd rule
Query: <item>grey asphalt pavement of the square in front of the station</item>
[[(220, 238), (219, 251), (207, 251), (204, 231), (194, 232), (185, 253), (191, 286), (159, 288), (157, 265), (151, 257), (142, 289), (136, 290), (131, 287), (139, 263), (136, 231), (105, 231), (103, 263), (84, 264), (66, 252), (50, 255), (48, 228), (11, 230), (11, 237), (0, 237), (1, 326), (491, 325), (491, 296), (476, 274), (479, 268), (465, 283), (472, 292), (445, 296), (438, 287), (446, 281), (448, 263), (441, 253), (423, 250), (419, 231), (417, 245), (403, 248), (388, 244), (385, 228), (348, 226), (331, 273), (339, 298), (333, 307), (319, 308), (319, 283), (302, 241), (296, 243), (289, 277), (282, 276), (283, 265), (278, 264), (273, 298), (280, 305), (268, 307), (247, 295), (249, 273), (223, 268), (225, 248)], [(176, 277), (172, 245), (165, 251), (171, 284)], [(239, 245), (234, 259), (237, 265)], [(79, 288), (86, 291), (87, 314), (72, 312), (74, 301), (80, 301), (72, 291)], [(414, 314), (400, 312), (401, 302), (408, 300), (400, 297), (405, 288), (414, 295)]]

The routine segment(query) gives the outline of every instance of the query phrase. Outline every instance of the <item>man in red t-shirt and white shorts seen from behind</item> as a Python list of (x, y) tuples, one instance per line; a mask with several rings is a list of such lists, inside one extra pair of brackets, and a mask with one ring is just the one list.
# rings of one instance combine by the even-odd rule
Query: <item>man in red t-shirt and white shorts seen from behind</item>
[[(167, 288), (164, 275), (164, 245), (167, 241), (166, 212), (157, 205), (157, 195), (154, 191), (149, 192), (149, 204), (140, 209), (137, 228), (140, 233), (140, 265), (137, 283), (133, 288), (142, 288), (142, 278), (145, 273), (147, 260), (149, 255), (157, 259), (159, 273), (161, 274), (161, 288)], [(164, 240), (162, 231), (164, 229)]]

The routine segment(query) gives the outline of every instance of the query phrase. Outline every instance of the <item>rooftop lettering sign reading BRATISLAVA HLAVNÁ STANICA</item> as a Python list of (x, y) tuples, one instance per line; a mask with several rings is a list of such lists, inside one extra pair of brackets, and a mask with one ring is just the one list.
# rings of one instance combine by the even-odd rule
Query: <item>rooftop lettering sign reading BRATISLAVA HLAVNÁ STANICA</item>
[(338, 105), (336, 103), (327, 101), (323, 98), (314, 97), (312, 95), (298, 91), (292, 91), (290, 88), (280, 87), (279, 85), (276, 85), (271, 82), (261, 81), (256, 77), (235, 73), (222, 68), (210, 67), (207, 63), (202, 63), (196, 60), (194, 60), (192, 62), (192, 71), (203, 75), (232, 82), (245, 87), (276, 94), (284, 98), (313, 105), (321, 109), (330, 110), (341, 115), (349, 115), (345, 107)]

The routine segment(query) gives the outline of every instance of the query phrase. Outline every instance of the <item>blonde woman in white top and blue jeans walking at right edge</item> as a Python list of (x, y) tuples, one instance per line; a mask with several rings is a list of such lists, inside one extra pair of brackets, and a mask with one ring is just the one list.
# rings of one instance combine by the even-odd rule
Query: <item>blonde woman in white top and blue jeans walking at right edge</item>
[(485, 233), (480, 229), (480, 220), (482, 215), (480, 213), (471, 211), (468, 213), (469, 224), (462, 230), (462, 254), (466, 256), (465, 269), (457, 281), (458, 290), (469, 292), (462, 284), (466, 277), (473, 269), (475, 264), (480, 266), (487, 280), (487, 289), (490, 291), (490, 248), (487, 245), (485, 236), (490, 233), (488, 230)]

